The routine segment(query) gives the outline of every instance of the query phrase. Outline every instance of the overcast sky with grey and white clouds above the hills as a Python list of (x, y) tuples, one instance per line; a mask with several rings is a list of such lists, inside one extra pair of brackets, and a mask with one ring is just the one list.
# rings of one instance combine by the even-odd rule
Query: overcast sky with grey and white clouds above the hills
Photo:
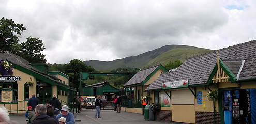
[(0, 15), (38, 37), (48, 63), (112, 61), (164, 45), (218, 50), (256, 39), (255, 0), (0, 0)]

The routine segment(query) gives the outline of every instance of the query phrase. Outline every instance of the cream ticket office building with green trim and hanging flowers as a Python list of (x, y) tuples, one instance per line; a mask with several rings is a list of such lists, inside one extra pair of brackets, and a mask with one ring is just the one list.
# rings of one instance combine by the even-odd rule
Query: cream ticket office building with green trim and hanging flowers
[(68, 86), (66, 74), (50, 72), (53, 74), (50, 75), (46, 64), (31, 64), (9, 51), (0, 53), (0, 59), (8, 61), (13, 67), (12, 75), (0, 75), (0, 78), (19, 77), (19, 80), (0, 81), (0, 105), (5, 106), (11, 113), (24, 113), (23, 110), (27, 110), (27, 101), (32, 94), (36, 94), (42, 104), (48, 103), (54, 94), (62, 104), (67, 104), (68, 96), (76, 92)]

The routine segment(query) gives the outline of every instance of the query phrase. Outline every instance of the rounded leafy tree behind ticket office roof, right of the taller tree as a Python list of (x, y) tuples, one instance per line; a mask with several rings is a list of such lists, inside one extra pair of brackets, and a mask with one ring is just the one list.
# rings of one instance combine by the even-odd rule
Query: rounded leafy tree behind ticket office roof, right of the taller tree
[(40, 53), (43, 51), (43, 43), (42, 40), (39, 38), (32, 38), (28, 37), (26, 38), (26, 41), (20, 44), (20, 56), (30, 63), (46, 63), (46, 59), (44, 57), (46, 55), (43, 55)]

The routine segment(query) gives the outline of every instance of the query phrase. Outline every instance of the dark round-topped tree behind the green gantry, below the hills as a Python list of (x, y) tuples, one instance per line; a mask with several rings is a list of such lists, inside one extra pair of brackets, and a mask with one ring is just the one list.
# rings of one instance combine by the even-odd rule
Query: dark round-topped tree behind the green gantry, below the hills
[(83, 63), (83, 61), (78, 59), (71, 60), (68, 64), (65, 65), (64, 70), (64, 73), (66, 74), (73, 73), (73, 75), (69, 76), (74, 77), (74, 80), (70, 78), (69, 82), (73, 82), (74, 87), (77, 89), (79, 88), (80, 72), (94, 72), (94, 68), (87, 66), (85, 63)]

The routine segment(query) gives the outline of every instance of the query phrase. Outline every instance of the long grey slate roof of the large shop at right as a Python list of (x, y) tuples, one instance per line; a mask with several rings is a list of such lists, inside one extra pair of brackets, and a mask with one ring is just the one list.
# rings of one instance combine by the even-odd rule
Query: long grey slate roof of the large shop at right
[[(234, 75), (239, 71), (239, 60), (245, 60), (239, 80), (256, 79), (256, 40), (220, 49), (218, 53)], [(188, 58), (176, 71), (161, 74), (146, 90), (161, 89), (162, 83), (185, 79), (189, 85), (206, 84), (216, 63), (217, 51)]]

